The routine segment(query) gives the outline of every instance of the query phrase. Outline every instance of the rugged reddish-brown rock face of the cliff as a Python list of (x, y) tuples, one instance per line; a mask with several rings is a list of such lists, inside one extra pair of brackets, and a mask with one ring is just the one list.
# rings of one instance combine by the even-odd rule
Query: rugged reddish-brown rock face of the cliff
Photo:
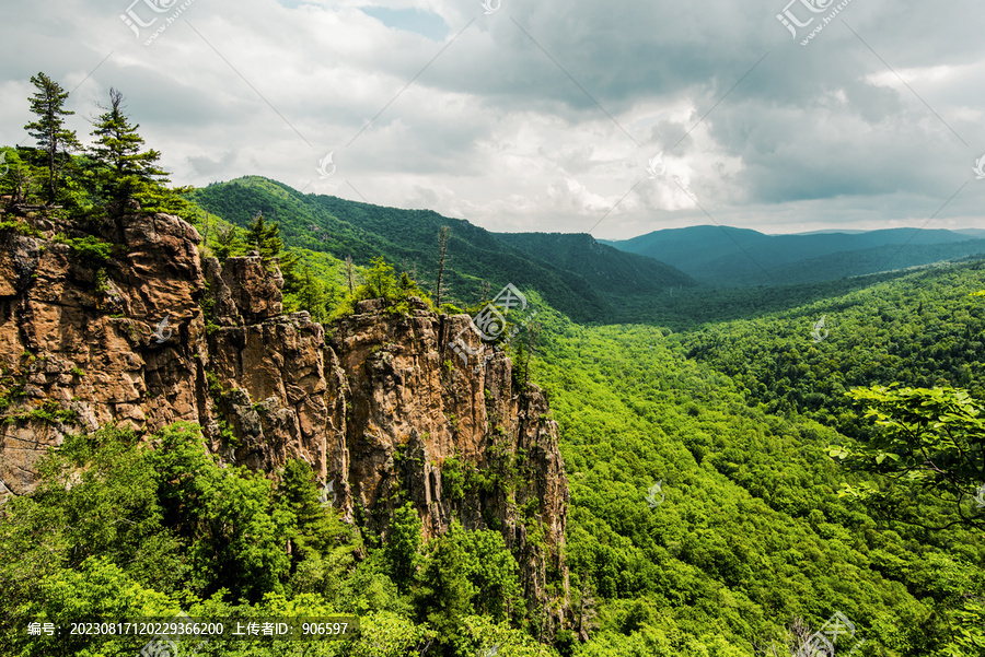
[(366, 301), (326, 335), (308, 313), (281, 314), (278, 271), (255, 255), (202, 262), (198, 233), (175, 216), (103, 225), (113, 253), (30, 223), (42, 237), (0, 233), (0, 496), (30, 493), (35, 461), (68, 432), (197, 422), (227, 462), (276, 476), (308, 461), (367, 530), (385, 532), (409, 501), (425, 538), (453, 519), (500, 531), (529, 602), (547, 610), (548, 633), (560, 626), (557, 425), (509, 359), (487, 352), (474, 371), (452, 353), (467, 316)]

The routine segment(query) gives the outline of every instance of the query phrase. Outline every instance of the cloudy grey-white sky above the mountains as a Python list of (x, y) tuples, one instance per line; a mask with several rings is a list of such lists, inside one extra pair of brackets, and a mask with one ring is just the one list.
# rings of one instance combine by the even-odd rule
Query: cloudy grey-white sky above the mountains
[(32, 145), (44, 71), (84, 143), (123, 92), (178, 185), (260, 175), (605, 239), (985, 228), (972, 0), (0, 0), (0, 144)]

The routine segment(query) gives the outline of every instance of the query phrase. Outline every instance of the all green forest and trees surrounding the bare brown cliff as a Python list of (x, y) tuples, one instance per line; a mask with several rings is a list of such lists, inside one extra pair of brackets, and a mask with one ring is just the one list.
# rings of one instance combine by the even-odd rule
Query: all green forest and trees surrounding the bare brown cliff
[[(341, 641), (182, 642), (204, 657), (806, 657), (826, 654), (803, 646), (835, 614), (853, 624), (839, 656), (985, 655), (985, 260), (723, 289), (613, 249), (599, 267), (622, 278), (602, 286), (570, 271), (577, 251), (552, 263), (433, 212), (263, 178), (169, 187), (121, 94), (83, 148), (65, 90), (32, 81), (37, 143), (3, 149), (0, 203), (71, 219), (60, 239), (96, 266), (117, 245), (91, 226), (169, 212), (202, 257), (276, 265), (285, 313), (329, 330), (361, 300), (473, 313), (518, 285), (540, 326), (510, 347), (526, 367), (514, 385), (542, 388), (560, 427), (571, 611), (545, 635), (498, 531), (452, 524), (425, 543), (404, 506), (384, 540), (323, 504), (303, 461), (267, 478), (220, 464), (194, 424), (104, 426), (0, 506), (0, 654), (139, 655), (137, 637), (23, 627), (184, 613), (358, 625)], [(15, 215), (0, 231), (31, 234)], [(640, 294), (634, 277), (651, 274)]]

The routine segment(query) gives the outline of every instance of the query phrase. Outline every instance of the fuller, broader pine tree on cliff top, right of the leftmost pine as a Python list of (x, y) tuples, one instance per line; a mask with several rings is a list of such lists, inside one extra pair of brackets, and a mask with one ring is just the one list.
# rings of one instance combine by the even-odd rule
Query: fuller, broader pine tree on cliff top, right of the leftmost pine
[(100, 105), (104, 112), (92, 131), (96, 138), (92, 157), (96, 165), (100, 193), (120, 212), (130, 199), (141, 206), (173, 200), (173, 192), (161, 186), (161, 183), (167, 181), (167, 172), (155, 164), (161, 153), (141, 151), (143, 138), (137, 132), (140, 125), (130, 124), (123, 112), (123, 94), (111, 89), (109, 106)]

